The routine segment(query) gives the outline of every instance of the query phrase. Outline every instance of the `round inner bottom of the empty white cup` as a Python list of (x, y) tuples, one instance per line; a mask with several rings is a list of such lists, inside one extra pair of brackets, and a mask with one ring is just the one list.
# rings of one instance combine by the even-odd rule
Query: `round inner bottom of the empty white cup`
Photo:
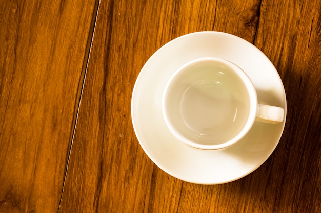
[[(219, 101), (218, 101), (219, 100)], [(221, 82), (204, 81), (191, 86), (181, 101), (181, 116), (187, 139), (198, 144), (217, 145), (242, 131), (248, 113), (244, 103), (233, 97)]]

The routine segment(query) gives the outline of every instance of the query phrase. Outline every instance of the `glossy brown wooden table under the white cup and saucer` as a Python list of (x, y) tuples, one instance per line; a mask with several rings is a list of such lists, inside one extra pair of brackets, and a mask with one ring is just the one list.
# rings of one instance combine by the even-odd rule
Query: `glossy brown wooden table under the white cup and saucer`
[[(197, 31), (253, 43), (284, 82), (279, 144), (250, 175), (160, 170), (131, 121), (135, 80)], [(0, 2), (0, 212), (321, 212), (321, 1)]]

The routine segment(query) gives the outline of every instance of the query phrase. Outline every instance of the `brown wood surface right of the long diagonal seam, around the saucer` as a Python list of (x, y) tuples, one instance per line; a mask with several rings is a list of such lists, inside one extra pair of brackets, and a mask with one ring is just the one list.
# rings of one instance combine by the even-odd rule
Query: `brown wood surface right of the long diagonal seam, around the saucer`
[[(319, 23), (319, 3), (102, 1), (59, 210), (319, 212)], [(130, 119), (132, 88), (147, 59), (166, 42), (205, 30), (262, 49), (285, 82), (289, 106), (285, 133), (267, 162), (245, 178), (211, 186), (157, 168)]]

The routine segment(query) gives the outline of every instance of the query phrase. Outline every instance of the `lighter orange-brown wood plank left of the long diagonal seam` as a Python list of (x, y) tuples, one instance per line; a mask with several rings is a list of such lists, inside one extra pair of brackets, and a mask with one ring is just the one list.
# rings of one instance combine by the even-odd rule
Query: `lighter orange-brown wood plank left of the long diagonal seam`
[(57, 212), (95, 1), (0, 2), (0, 212)]

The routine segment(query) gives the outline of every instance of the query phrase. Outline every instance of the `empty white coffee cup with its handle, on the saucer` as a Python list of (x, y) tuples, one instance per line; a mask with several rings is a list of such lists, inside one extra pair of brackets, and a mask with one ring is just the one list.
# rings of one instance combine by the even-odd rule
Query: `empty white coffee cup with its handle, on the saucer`
[(220, 58), (199, 58), (177, 69), (162, 101), (169, 130), (198, 149), (229, 147), (249, 132), (254, 121), (284, 120), (283, 108), (258, 104), (247, 74)]

